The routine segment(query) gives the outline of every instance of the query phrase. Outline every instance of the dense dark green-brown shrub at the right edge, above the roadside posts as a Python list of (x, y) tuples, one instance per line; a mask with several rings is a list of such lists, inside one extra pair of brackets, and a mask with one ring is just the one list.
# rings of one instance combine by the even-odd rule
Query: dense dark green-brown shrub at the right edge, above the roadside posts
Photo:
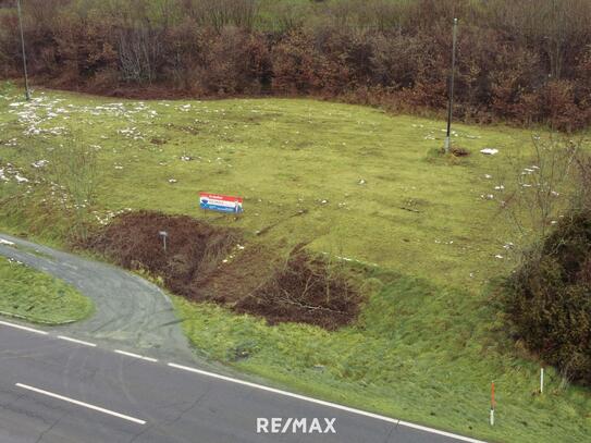
[(505, 310), (528, 348), (591, 384), (591, 212), (564, 218), (506, 283)]

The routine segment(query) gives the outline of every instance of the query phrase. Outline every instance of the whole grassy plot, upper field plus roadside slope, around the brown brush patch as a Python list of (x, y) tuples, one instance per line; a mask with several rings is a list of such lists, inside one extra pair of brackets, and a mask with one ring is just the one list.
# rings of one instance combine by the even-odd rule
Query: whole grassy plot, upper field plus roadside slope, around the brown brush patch
[[(51, 161), (70, 133), (97, 158), (96, 198), (82, 204), (97, 224), (128, 208), (157, 209), (239, 227), (270, 245), (309, 242), (313, 250), (377, 264), (368, 280), (374, 295), (360, 319), (337, 332), (268, 327), (175, 298), (187, 334), (209, 357), (303, 392), (493, 441), (591, 436), (590, 392), (550, 370), (546, 393), (534, 395), (539, 366), (506, 336), (488, 292), (491, 279), (516, 264), (510, 245), (530, 241), (500, 202), (531, 165), (531, 132), (455, 125), (455, 145), (471, 152), (456, 159), (434, 152), (443, 122), (364, 107), (53, 91), (37, 91), (25, 104), (17, 94), (0, 89), (2, 229), (64, 241), (73, 202)], [(500, 152), (483, 156), (485, 147)], [(202, 213), (199, 190), (244, 196), (246, 212), (237, 220)]]

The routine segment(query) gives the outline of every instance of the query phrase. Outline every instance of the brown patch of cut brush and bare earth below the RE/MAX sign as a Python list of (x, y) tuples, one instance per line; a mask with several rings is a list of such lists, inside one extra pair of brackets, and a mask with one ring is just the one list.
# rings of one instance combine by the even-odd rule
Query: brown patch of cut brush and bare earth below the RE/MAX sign
[[(168, 233), (167, 250), (161, 231)], [(161, 278), (177, 295), (261, 316), (271, 324), (336, 329), (357, 317), (362, 298), (342, 262), (330, 263), (304, 245), (284, 257), (261, 242), (245, 245), (238, 230), (186, 216), (122, 214), (84, 247)]]

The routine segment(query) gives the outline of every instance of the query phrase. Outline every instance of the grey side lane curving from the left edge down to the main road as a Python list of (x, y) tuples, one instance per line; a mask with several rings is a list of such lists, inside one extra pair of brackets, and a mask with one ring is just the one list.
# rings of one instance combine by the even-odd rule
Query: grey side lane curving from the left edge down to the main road
[(155, 284), (114, 266), (37, 245), (0, 233), (0, 255), (20, 260), (72, 284), (95, 304), (94, 315), (81, 322), (58, 327), (75, 334), (135, 349), (152, 349), (193, 360), (190, 346), (170, 299)]

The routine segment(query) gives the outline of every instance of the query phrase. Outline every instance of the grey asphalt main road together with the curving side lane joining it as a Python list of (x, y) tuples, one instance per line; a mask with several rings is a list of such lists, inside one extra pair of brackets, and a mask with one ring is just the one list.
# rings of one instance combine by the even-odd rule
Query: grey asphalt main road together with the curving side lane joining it
[(2, 443), (477, 442), (206, 365), (158, 287), (114, 267), (0, 238), (19, 245), (0, 245), (0, 255), (74, 284), (97, 309), (89, 320), (51, 329), (0, 321)]

